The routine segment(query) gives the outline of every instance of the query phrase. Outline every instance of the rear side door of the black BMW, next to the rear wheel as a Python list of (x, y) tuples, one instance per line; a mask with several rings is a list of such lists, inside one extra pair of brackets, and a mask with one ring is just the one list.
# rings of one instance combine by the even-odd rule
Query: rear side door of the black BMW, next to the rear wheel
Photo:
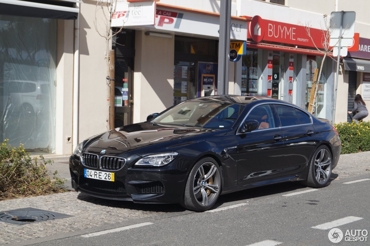
[(310, 161), (316, 139), (312, 118), (293, 106), (275, 104), (284, 141), (283, 175), (303, 171)]

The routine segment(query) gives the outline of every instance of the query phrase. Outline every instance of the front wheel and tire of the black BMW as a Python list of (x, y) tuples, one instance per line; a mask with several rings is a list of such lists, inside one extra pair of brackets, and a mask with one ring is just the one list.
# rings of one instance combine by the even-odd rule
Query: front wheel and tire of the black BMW
[(203, 158), (189, 174), (181, 205), (194, 211), (211, 209), (216, 204), (221, 188), (221, 168), (213, 158)]

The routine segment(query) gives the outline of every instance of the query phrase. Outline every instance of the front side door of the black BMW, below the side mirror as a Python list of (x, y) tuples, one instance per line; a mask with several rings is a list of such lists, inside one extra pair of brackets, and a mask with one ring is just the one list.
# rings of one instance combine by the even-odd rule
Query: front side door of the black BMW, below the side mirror
[(282, 133), (269, 104), (252, 108), (245, 120), (257, 120), (258, 128), (237, 133), (238, 184), (281, 175)]

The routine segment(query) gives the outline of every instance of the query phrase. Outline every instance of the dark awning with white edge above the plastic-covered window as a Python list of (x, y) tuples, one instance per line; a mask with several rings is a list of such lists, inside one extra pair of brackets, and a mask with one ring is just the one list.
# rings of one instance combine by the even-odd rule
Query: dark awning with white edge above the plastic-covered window
[[(78, 0), (54, 0), (35, 3), (33, 1), (0, 0), (0, 15), (27, 16), (38, 18), (77, 19), (79, 9), (74, 7)], [(46, 4), (47, 3), (47, 4)]]

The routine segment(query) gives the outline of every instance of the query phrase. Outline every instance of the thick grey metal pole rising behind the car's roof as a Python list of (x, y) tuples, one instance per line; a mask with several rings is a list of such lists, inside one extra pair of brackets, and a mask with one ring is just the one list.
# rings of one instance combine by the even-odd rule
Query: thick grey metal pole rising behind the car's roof
[(230, 51), (230, 22), (231, 0), (221, 0), (220, 30), (218, 43), (218, 75), (217, 94), (229, 93), (229, 51)]

